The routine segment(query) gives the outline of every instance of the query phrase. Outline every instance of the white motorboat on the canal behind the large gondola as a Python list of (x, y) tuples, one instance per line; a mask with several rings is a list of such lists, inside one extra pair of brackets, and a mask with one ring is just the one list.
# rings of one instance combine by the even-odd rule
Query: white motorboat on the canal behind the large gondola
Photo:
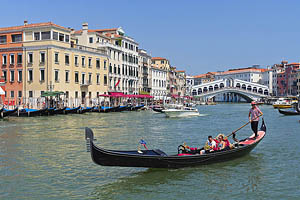
[(177, 106), (175, 108), (169, 108), (162, 111), (167, 117), (190, 117), (200, 115), (197, 108), (184, 106)]

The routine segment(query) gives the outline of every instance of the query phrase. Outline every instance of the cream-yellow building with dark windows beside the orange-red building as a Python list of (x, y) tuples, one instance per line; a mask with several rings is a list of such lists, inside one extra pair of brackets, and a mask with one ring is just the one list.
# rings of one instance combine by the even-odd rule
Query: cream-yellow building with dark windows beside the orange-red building
[[(68, 106), (91, 103), (107, 92), (105, 49), (75, 44), (70, 29), (52, 22), (25, 23), (17, 28), (22, 32), (22, 51), (18, 55), (23, 55), (22, 65), (17, 65), (22, 89), (17, 90), (24, 104), (41, 103), (45, 91), (63, 92), (61, 98)], [(9, 89), (9, 84), (6, 87)]]

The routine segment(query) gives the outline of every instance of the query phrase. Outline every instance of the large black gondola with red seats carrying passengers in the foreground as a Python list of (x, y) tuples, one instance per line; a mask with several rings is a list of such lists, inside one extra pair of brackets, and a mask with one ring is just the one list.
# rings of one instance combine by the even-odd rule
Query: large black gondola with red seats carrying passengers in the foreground
[(266, 126), (263, 121), (258, 137), (254, 134), (234, 144), (234, 148), (226, 151), (213, 151), (211, 153), (189, 154), (178, 146), (178, 153), (167, 155), (159, 149), (119, 151), (107, 150), (94, 144), (94, 134), (91, 129), (85, 128), (87, 150), (90, 151), (94, 163), (103, 166), (119, 167), (146, 167), (146, 168), (182, 168), (210, 164), (235, 159), (248, 154), (264, 138)]

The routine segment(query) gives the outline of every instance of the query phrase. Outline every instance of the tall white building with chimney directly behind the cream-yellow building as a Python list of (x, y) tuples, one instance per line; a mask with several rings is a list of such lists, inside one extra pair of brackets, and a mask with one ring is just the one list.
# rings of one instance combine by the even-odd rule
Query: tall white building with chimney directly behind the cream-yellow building
[(93, 48), (106, 48), (109, 53), (109, 92), (138, 94), (138, 43), (125, 35), (124, 30), (88, 29), (82, 24), (82, 30), (75, 31), (77, 44)]

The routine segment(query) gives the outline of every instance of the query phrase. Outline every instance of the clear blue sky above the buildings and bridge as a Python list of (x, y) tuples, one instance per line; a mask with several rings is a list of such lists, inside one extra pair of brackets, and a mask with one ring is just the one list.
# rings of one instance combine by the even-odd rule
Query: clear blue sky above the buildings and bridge
[(139, 48), (189, 75), (300, 62), (296, 0), (1, 0), (1, 7), (0, 27), (24, 20), (122, 27)]

